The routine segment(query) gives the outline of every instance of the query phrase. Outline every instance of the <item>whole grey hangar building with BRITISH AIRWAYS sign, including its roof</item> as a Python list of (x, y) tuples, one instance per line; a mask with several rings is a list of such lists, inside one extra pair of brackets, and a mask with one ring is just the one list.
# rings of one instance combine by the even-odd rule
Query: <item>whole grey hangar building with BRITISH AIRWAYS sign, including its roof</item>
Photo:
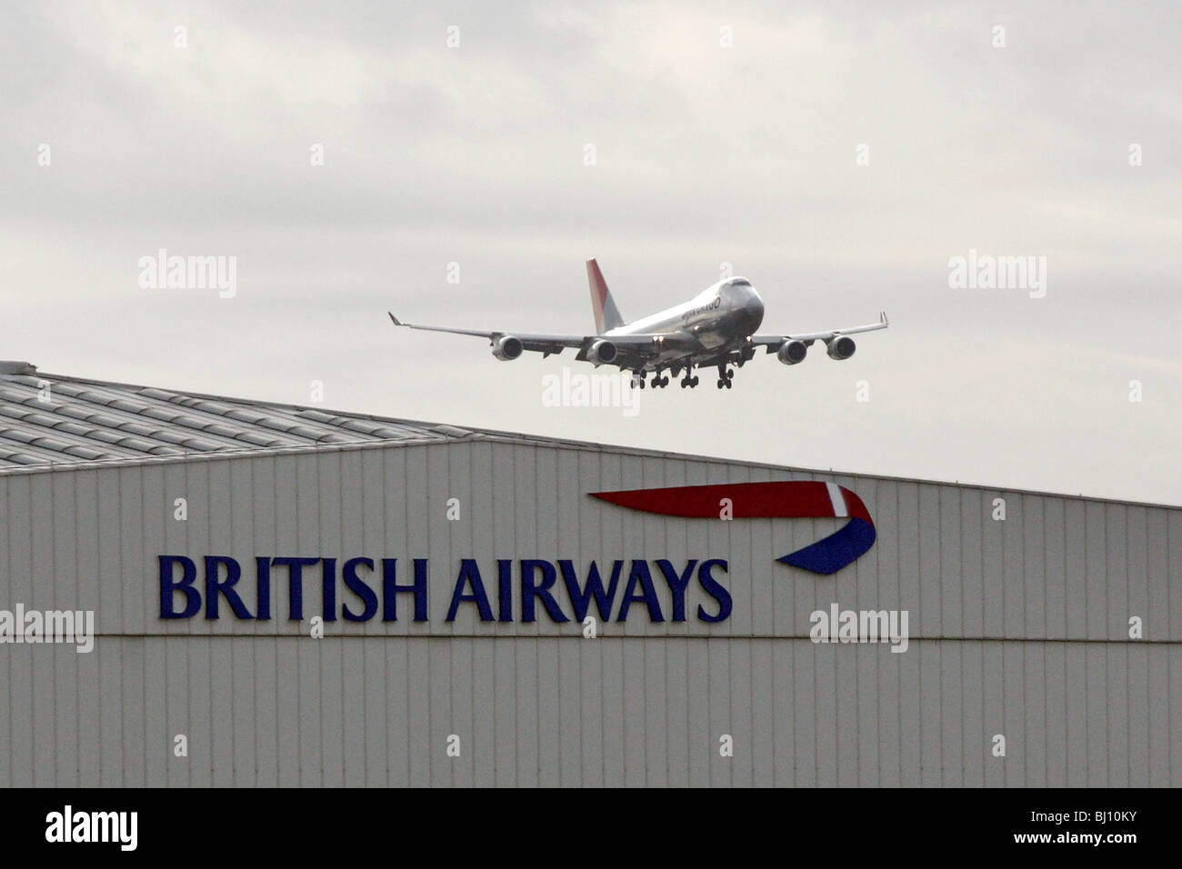
[(1177, 786), (1180, 547), (0, 363), (0, 785)]

